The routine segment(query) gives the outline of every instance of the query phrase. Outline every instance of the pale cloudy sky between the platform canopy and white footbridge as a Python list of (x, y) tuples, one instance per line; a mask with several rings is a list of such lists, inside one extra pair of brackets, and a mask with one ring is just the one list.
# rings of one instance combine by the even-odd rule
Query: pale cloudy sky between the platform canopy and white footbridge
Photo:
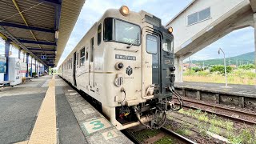
[(102, 14), (108, 9), (118, 9), (122, 5), (126, 5), (132, 11), (145, 10), (158, 18), (162, 18), (162, 24), (170, 21), (175, 14), (178, 14), (191, 0), (183, 0), (177, 2), (175, 0), (86, 0), (82, 7), (78, 21), (74, 26), (74, 30), (70, 35), (66, 48), (58, 62), (58, 66), (70, 54), (70, 51), (78, 44), (81, 38), (86, 34), (90, 27), (102, 17)]

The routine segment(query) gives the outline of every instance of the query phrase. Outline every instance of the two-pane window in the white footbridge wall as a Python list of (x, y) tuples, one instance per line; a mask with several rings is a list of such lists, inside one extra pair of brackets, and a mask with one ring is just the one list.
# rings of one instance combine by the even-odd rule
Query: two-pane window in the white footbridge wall
[(205, 10), (198, 11), (194, 14), (190, 14), (187, 17), (187, 25), (190, 26), (194, 23), (202, 22), (208, 18), (210, 18), (210, 7), (206, 8)]

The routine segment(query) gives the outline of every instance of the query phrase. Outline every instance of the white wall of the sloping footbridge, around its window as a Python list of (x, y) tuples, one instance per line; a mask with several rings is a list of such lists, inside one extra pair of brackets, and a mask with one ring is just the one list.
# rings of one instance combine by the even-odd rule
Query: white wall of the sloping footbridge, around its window
[[(212, 22), (216, 21), (223, 14), (226, 14), (234, 6), (237, 6), (243, 0), (197, 0), (192, 6), (187, 8), (182, 14), (175, 18), (168, 26), (174, 28), (174, 51), (178, 46), (184, 45), (184, 43), (189, 42), (190, 38), (195, 34), (198, 34), (201, 30), (205, 29)], [(245, 0), (247, 1), (247, 0)], [(204, 10), (210, 7), (211, 18), (195, 23), (193, 25), (187, 25), (187, 16), (194, 14), (195, 12)]]

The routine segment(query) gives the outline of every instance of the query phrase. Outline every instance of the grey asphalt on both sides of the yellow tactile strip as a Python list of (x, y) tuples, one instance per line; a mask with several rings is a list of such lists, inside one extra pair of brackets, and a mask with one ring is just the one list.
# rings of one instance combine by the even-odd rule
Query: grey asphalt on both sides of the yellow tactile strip
[[(24, 142), (30, 139), (51, 78), (51, 76), (34, 78), (31, 82), (13, 88), (1, 89), (0, 144)], [(63, 87), (68, 85), (59, 78), (55, 83), (59, 143), (86, 143), (82, 130), (63, 93)]]

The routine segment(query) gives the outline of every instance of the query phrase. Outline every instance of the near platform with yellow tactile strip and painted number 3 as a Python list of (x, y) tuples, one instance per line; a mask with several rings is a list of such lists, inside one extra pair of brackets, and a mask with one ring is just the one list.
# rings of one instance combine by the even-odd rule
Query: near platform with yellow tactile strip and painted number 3
[(58, 76), (0, 91), (0, 143), (132, 143)]

